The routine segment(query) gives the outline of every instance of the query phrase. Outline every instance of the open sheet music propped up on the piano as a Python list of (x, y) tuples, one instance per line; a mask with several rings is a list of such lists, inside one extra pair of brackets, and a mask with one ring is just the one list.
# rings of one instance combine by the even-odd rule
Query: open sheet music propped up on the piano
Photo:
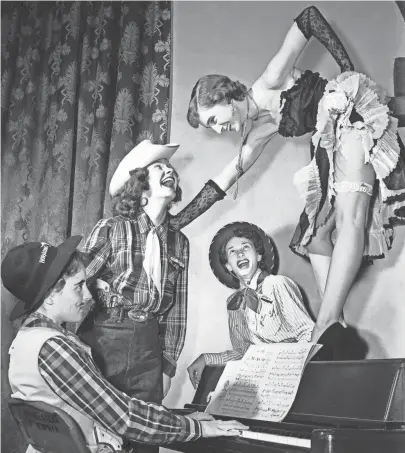
[(281, 421), (294, 402), (314, 347), (319, 350), (314, 343), (250, 346), (242, 360), (226, 365), (206, 412)]

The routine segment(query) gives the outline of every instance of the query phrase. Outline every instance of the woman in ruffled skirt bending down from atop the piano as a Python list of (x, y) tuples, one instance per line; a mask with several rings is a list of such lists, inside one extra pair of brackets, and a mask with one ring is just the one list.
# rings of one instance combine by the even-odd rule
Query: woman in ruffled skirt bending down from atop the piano
[[(311, 36), (341, 68), (330, 82), (295, 67)], [(224, 191), (275, 134), (313, 133), (312, 161), (294, 178), (305, 209), (290, 244), (295, 253), (309, 256), (323, 298), (313, 341), (342, 318), (363, 257), (384, 257), (393, 225), (405, 223), (405, 149), (397, 120), (376, 84), (353, 69), (339, 38), (311, 6), (295, 19), (249, 90), (226, 76), (204, 76), (192, 91), (187, 114), (194, 128), (242, 132), (239, 155), (214, 179)]]

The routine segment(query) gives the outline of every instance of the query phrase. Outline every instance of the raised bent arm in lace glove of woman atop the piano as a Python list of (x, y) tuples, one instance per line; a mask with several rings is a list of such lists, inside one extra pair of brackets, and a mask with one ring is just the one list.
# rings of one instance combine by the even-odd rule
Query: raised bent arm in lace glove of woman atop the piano
[(269, 88), (277, 88), (284, 84), (312, 36), (328, 49), (342, 72), (354, 70), (346, 49), (328, 21), (318, 8), (309, 6), (294, 20), (280, 50), (271, 59), (262, 75)]

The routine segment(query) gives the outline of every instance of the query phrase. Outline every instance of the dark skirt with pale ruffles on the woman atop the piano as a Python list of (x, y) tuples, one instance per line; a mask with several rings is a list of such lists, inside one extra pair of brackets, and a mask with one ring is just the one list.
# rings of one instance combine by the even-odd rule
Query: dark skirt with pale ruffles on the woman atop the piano
[[(361, 158), (372, 165), (376, 175), (364, 256), (383, 258), (391, 248), (393, 226), (405, 224), (405, 147), (397, 133), (398, 120), (386, 104), (385, 93), (363, 74), (345, 72), (326, 85), (311, 140), (311, 163), (294, 178), (305, 200), (290, 244), (295, 253), (307, 255), (317, 229), (333, 214), (336, 183), (345, 180), (337, 163), (348, 159), (350, 165), (350, 149), (342, 146), (347, 133), (355, 133)], [(353, 180), (353, 172), (348, 179)], [(362, 182), (361, 171), (356, 181)]]

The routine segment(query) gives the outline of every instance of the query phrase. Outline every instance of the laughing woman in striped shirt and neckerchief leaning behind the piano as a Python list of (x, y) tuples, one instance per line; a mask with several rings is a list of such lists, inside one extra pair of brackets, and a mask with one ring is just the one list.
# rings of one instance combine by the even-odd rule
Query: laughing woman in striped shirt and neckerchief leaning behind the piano
[(273, 246), (261, 228), (247, 222), (225, 225), (211, 242), (210, 264), (222, 284), (237, 289), (227, 301), (233, 349), (201, 354), (188, 367), (194, 388), (205, 365), (239, 360), (251, 344), (310, 341), (314, 322), (298, 286), (272, 275)]

